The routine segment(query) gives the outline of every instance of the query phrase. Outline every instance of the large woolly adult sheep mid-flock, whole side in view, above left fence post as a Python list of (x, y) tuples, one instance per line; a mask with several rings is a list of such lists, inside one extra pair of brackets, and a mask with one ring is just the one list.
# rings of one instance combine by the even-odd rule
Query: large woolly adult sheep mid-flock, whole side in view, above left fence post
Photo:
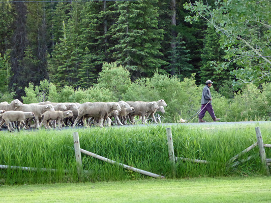
[(86, 102), (79, 106), (78, 116), (74, 121), (73, 127), (83, 117), (84, 126), (87, 127), (85, 119), (88, 117), (99, 118), (100, 127), (103, 127), (103, 120), (113, 110), (121, 111), (118, 103), (104, 103), (104, 102)]

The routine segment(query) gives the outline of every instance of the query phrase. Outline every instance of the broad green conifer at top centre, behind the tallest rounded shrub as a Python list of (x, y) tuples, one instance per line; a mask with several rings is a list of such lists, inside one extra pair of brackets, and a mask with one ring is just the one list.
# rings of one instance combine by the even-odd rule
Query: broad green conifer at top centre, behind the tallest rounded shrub
[(113, 57), (134, 78), (152, 76), (166, 64), (160, 59), (163, 30), (158, 29), (157, 4), (157, 0), (116, 3), (119, 17), (112, 28), (112, 38), (116, 41)]

